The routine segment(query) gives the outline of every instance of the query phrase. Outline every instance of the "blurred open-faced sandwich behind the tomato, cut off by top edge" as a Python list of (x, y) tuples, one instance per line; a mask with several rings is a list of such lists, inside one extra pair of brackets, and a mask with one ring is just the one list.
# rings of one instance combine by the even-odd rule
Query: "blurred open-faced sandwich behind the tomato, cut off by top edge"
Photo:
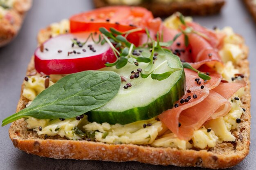
[[(251, 0), (252, 1), (252, 0)], [(140, 6), (156, 17), (167, 17), (177, 11), (184, 15), (212, 15), (219, 13), (225, 0), (93, 0), (95, 7), (110, 5)]]

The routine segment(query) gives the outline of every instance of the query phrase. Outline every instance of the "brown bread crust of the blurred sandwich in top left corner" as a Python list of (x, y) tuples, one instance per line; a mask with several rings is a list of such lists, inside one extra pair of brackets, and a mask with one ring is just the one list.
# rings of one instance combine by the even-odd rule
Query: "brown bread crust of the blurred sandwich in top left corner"
[(8, 17), (0, 19), (0, 47), (11, 42), (18, 34), (31, 5), (32, 0), (16, 0), (13, 8), (7, 12)]

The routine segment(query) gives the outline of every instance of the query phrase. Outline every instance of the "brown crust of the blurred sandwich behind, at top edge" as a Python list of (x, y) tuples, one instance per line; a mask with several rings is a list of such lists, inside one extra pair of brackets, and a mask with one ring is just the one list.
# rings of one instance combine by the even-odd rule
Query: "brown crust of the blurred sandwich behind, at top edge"
[[(106, 0), (93, 0), (97, 8), (106, 7), (110, 4)], [(225, 5), (225, 0), (194, 0), (189, 2), (142, 2), (139, 4), (152, 11), (155, 17), (166, 17), (179, 11), (184, 15), (213, 15), (219, 13)]]

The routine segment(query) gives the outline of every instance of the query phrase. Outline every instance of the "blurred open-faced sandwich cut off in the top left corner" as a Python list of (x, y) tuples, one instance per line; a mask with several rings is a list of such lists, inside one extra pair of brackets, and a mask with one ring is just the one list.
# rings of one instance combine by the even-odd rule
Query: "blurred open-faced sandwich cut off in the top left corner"
[(0, 47), (18, 34), (31, 4), (32, 0), (0, 0)]

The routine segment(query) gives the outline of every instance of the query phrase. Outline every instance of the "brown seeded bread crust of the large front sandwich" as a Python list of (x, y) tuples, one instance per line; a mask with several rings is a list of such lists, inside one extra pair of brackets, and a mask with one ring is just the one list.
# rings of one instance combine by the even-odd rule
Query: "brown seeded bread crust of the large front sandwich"
[[(49, 31), (49, 30), (48, 30)], [(47, 35), (47, 36), (44, 36)], [(47, 29), (41, 30), (38, 39), (48, 37)], [(40, 40), (39, 40), (40, 42)], [(174, 166), (199, 166), (206, 168), (228, 168), (242, 161), (249, 153), (250, 145), (250, 82), (249, 62), (247, 60), (248, 48), (243, 45), (243, 59), (236, 65), (240, 73), (245, 75), (247, 86), (245, 94), (241, 97), (243, 108), (241, 123), (238, 128), (232, 130), (236, 137), (235, 142), (222, 142), (214, 148), (203, 150), (179, 150), (176, 148), (155, 148), (152, 146), (139, 146), (134, 144), (104, 144), (94, 141), (73, 141), (58, 136), (44, 139), (33, 131), (27, 131), (27, 123), (24, 119), (17, 120), (11, 124), (9, 136), (13, 145), (27, 153), (41, 157), (56, 159), (82, 159), (102, 161), (139, 161), (155, 165)], [(31, 58), (27, 68), (27, 75), (34, 72), (34, 57)], [(16, 112), (25, 108), (29, 101), (22, 96), (24, 83), (21, 88), (20, 100)]]

